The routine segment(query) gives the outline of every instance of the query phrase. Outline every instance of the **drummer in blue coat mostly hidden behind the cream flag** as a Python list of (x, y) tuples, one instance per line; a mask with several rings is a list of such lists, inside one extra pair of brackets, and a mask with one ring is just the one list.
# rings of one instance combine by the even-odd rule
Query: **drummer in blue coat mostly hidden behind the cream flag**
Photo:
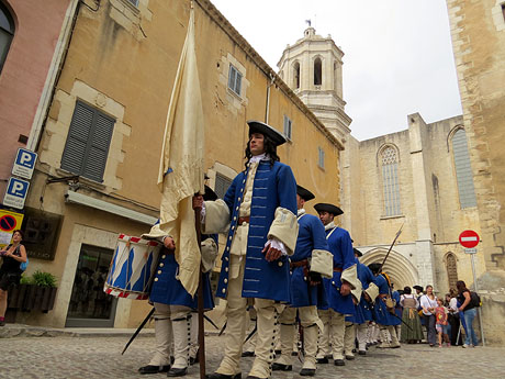
[[(217, 199), (215, 192), (205, 186), (206, 199)], [(198, 309), (198, 296), (194, 298), (186, 291), (177, 278), (179, 265), (176, 260), (176, 245), (170, 236), (162, 237), (164, 247), (156, 276), (149, 293), (149, 301), (155, 306), (156, 352), (147, 366), (138, 369), (141, 374), (166, 372), (168, 377), (182, 377), (188, 372), (191, 345), (194, 345), (197, 331), (192, 327), (193, 312)], [(202, 264), (205, 271), (203, 281), (204, 308), (214, 308), (209, 272), (217, 255), (217, 234), (202, 234)], [(211, 258), (209, 258), (211, 257)], [(194, 317), (197, 317), (194, 315)], [(194, 323), (193, 323), (194, 325)], [(170, 345), (173, 341), (173, 364), (170, 367)], [(198, 348), (198, 347), (197, 347)], [(193, 348), (193, 349), (197, 349)], [(193, 357), (194, 358), (194, 357)]]

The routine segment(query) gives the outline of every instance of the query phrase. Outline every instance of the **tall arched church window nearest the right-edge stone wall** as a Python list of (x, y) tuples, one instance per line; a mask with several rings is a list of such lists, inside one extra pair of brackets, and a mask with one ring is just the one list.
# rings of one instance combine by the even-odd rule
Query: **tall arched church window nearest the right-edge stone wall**
[(452, 154), (454, 156), (456, 180), (458, 182), (459, 202), (461, 209), (476, 207), (473, 175), (470, 166), (467, 133), (459, 129), (452, 136)]

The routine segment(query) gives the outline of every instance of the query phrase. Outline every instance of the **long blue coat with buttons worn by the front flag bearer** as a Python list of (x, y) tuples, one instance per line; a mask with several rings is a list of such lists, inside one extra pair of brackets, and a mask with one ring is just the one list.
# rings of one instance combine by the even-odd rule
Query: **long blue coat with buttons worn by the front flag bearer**
[[(237, 228), (238, 211), (244, 198), (249, 166), (238, 174), (229, 186), (224, 201), (228, 205), (231, 220), (226, 247), (222, 257), (221, 275), (216, 296), (226, 298), (229, 271), (229, 248)], [(267, 261), (261, 250), (274, 219), (276, 210), (281, 207), (296, 214), (296, 181), (291, 168), (280, 161), (271, 165), (261, 160), (256, 170), (250, 205), (249, 234), (247, 237), (246, 266), (242, 296), (289, 302), (290, 268), (289, 259), (282, 256), (278, 260)]]

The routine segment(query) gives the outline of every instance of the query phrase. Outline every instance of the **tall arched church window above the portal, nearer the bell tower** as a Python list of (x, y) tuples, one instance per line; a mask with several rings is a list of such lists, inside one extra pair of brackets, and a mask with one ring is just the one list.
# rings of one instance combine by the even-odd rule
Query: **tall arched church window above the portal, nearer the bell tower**
[(381, 153), (382, 187), (384, 193), (384, 215), (399, 215), (400, 213), (400, 186), (399, 186), (399, 158), (395, 148), (388, 146)]

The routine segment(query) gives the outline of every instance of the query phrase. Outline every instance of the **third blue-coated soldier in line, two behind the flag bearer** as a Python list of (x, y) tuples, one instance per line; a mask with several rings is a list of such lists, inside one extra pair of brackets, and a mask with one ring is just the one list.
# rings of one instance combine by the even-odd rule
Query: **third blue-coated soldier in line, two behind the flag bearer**
[(335, 216), (343, 214), (340, 208), (318, 203), (314, 209), (325, 225), (326, 239), (332, 252), (334, 274), (332, 279), (323, 279), (328, 296), (328, 308), (319, 306), (319, 319), (324, 323), (324, 333), (319, 336), (317, 363), (327, 364), (329, 355), (329, 336), (332, 336), (332, 356), (335, 366), (344, 366), (345, 315), (354, 314), (351, 290), (360, 289), (357, 265), (352, 252), (352, 242), (345, 228), (334, 223)]

